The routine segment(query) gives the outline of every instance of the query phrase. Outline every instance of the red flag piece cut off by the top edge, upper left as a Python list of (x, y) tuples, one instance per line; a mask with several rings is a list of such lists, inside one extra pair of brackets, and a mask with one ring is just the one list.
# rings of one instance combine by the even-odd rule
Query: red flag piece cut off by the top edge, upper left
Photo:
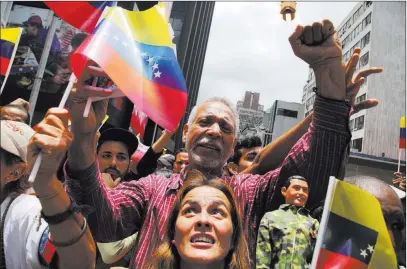
[(105, 7), (116, 6), (115, 1), (46, 1), (44, 2), (61, 19), (73, 27), (92, 33)]

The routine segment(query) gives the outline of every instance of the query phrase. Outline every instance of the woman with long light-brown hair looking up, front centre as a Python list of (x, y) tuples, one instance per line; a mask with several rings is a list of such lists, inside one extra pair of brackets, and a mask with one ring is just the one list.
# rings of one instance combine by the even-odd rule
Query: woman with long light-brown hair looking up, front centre
[(168, 218), (149, 269), (247, 269), (248, 249), (233, 192), (192, 170)]

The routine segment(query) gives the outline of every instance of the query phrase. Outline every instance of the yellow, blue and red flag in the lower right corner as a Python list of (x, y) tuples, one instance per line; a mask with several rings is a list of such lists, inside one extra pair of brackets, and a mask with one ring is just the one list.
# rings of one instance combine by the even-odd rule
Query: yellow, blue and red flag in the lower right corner
[(325, 204), (326, 225), (321, 225), (318, 233), (322, 245), (314, 250), (318, 254), (315, 268), (396, 268), (396, 255), (379, 201), (352, 184), (331, 180), (335, 183), (332, 195), (327, 196), (331, 199)]

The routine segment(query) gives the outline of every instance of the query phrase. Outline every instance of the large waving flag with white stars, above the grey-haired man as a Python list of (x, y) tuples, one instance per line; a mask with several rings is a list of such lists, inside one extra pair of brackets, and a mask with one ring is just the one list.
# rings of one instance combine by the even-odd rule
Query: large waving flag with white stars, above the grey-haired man
[(157, 6), (141, 12), (112, 7), (71, 56), (71, 66), (79, 77), (88, 60), (96, 62), (138, 109), (174, 131), (187, 89), (172, 45)]

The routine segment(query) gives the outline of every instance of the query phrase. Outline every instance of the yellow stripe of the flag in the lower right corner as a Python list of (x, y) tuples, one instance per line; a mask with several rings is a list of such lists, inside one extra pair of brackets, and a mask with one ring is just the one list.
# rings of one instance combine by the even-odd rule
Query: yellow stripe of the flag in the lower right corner
[(368, 268), (397, 268), (393, 245), (376, 197), (352, 184), (337, 180), (330, 211), (378, 232)]

